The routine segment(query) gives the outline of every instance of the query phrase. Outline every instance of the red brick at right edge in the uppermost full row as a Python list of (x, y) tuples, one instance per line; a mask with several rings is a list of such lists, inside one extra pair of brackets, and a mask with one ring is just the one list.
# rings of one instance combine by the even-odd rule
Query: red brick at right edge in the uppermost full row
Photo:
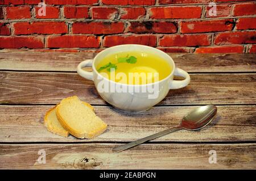
[(234, 5), (234, 16), (245, 16), (256, 14), (256, 3), (243, 3)]

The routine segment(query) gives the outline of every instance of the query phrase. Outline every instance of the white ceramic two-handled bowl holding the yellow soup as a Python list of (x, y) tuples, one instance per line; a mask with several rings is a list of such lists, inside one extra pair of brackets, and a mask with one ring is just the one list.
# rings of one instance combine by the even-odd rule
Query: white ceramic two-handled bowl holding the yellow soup
[[(118, 52), (130, 51), (150, 52), (163, 58), (163, 60), (170, 64), (172, 68), (171, 73), (160, 81), (142, 85), (131, 85), (112, 81), (97, 71), (96, 67), (104, 57)], [(82, 68), (85, 67), (92, 67), (92, 71), (83, 70)], [(163, 100), (170, 89), (180, 89), (187, 86), (190, 82), (189, 74), (182, 69), (176, 68), (174, 60), (167, 53), (153, 47), (137, 44), (117, 45), (102, 50), (93, 60), (82, 61), (77, 66), (77, 73), (81, 77), (94, 82), (102, 99), (115, 108), (128, 112), (146, 111)], [(184, 79), (182, 81), (175, 81), (174, 76), (180, 76)]]

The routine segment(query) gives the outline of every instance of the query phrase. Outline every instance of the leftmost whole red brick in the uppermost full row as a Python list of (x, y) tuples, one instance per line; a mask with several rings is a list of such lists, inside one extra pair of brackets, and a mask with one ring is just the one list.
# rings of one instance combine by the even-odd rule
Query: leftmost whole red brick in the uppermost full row
[(31, 18), (30, 7), (6, 7), (6, 19)]

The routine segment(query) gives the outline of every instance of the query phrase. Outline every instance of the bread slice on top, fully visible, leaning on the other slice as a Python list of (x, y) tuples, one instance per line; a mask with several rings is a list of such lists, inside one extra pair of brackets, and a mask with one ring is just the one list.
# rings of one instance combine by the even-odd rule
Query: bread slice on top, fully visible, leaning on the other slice
[(77, 138), (94, 138), (107, 127), (77, 96), (61, 100), (56, 107), (56, 115), (63, 128)]

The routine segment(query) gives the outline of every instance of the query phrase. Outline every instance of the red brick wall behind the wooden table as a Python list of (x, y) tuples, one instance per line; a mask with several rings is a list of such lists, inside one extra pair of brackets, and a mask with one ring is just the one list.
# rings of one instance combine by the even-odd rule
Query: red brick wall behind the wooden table
[[(256, 53), (246, 0), (0, 0), (0, 49), (98, 51), (144, 44), (166, 52)], [(210, 15), (210, 2), (217, 5)]]

